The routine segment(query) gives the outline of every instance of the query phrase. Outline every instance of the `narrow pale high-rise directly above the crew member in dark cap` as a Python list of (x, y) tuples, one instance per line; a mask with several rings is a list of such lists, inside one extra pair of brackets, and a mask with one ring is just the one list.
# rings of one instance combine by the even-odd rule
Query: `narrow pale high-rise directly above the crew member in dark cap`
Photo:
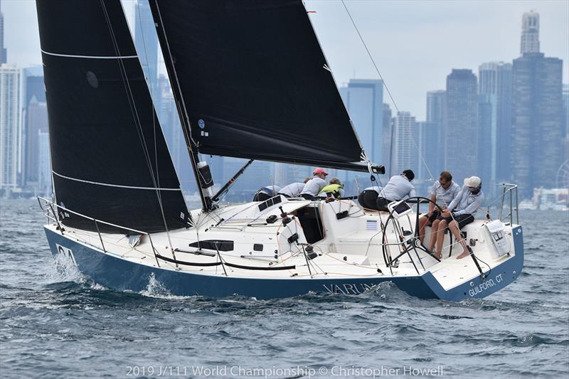
[(406, 169), (418, 171), (418, 151), (414, 143), (417, 136), (415, 117), (410, 112), (398, 112), (393, 119), (392, 175)]

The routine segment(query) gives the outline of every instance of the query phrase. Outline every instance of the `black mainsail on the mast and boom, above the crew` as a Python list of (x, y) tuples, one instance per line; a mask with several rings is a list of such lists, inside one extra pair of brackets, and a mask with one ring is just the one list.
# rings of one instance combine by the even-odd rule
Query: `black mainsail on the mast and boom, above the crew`
[(367, 169), (301, 0), (149, 3), (199, 152)]

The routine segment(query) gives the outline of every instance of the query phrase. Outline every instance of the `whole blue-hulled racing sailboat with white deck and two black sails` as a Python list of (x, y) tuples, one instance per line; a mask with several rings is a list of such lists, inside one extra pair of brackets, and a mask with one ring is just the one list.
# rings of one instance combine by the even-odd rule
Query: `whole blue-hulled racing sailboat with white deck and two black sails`
[[(361, 294), (392, 282), (459, 301), (519, 277), (514, 185), (506, 222), (462, 230), (463, 260), (451, 235), (443, 259), (422, 247), (425, 198), (390, 212), (336, 198), (221, 203), (253, 160), (385, 169), (361, 147), (302, 1), (149, 4), (202, 206), (186, 207), (120, 1), (37, 0), (54, 189), (38, 201), (54, 255), (112, 289), (157, 281), (182, 296)], [(202, 154), (249, 161), (213, 193)]]

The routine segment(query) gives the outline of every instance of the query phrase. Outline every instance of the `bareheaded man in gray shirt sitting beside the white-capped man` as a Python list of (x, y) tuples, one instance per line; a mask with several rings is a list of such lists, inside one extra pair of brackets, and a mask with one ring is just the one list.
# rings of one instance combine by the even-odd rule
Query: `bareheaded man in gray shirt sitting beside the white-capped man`
[[(449, 171), (442, 171), (439, 180), (435, 181), (431, 188), (431, 201), (435, 202), (441, 209), (448, 208), (449, 204), (457, 197), (460, 192), (460, 186), (452, 181), (452, 175)], [(419, 218), (419, 237), (421, 243), (425, 240), (425, 227), (431, 226), (431, 239), (429, 250), (435, 248), (437, 242), (437, 229), (441, 220), (439, 220), (440, 210), (435, 204), (429, 203), (429, 212)]]

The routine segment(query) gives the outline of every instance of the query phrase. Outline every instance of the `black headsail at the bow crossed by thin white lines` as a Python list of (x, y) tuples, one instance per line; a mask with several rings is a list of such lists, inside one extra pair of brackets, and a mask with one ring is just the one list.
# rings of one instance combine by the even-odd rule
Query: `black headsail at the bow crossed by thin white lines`
[[(120, 1), (36, 4), (58, 204), (145, 232), (186, 227), (189, 213)], [(63, 223), (95, 230), (73, 213)]]

